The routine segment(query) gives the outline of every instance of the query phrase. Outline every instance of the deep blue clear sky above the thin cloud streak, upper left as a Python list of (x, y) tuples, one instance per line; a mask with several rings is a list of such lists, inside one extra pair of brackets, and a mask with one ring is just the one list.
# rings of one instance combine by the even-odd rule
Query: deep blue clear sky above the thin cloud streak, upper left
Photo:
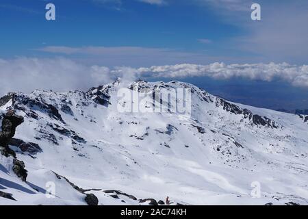
[(227, 56), (228, 48), (223, 42), (242, 33), (239, 27), (223, 22), (215, 10), (185, 1), (171, 1), (168, 5), (134, 0), (120, 4), (112, 0), (52, 2), (56, 6), (55, 22), (44, 19), (46, 1), (1, 1), (1, 27), (5, 33), (0, 40), (1, 47), (7, 49), (2, 57), (47, 55), (34, 51), (47, 46), (142, 47), (144, 52), (146, 48), (157, 48), (187, 53), (183, 61), (190, 62), (194, 59), (189, 53), (196, 53), (205, 63), (216, 56)]

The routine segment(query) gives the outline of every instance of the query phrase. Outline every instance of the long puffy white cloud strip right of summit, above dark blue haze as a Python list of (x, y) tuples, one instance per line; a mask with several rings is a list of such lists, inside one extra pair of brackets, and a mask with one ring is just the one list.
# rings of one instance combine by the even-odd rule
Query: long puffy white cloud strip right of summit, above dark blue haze
[(224, 64), (215, 62), (208, 65), (177, 64), (138, 68), (138, 73), (140, 75), (171, 78), (207, 76), (214, 79), (242, 77), (262, 81), (282, 79), (292, 83), (294, 86), (308, 87), (308, 65), (296, 66), (287, 63)]

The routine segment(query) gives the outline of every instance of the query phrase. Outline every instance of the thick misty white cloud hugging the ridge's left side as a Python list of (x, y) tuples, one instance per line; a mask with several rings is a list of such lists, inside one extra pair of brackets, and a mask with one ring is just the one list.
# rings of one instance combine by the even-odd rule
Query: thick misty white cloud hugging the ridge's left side
[(86, 90), (111, 81), (109, 68), (85, 66), (64, 58), (0, 59), (0, 75), (0, 95), (17, 91), (31, 92), (35, 89)]

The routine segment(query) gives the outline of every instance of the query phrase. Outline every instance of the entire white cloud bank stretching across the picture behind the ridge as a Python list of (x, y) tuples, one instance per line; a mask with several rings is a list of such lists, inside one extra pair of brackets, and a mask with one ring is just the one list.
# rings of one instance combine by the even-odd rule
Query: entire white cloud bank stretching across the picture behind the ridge
[(207, 65), (176, 64), (131, 68), (80, 64), (64, 57), (38, 59), (18, 57), (13, 60), (0, 59), (0, 95), (8, 92), (31, 92), (40, 90), (88, 90), (92, 86), (110, 83), (116, 77), (124, 81), (138, 78), (211, 77), (214, 79), (244, 78), (273, 81), (280, 79), (293, 86), (308, 88), (308, 65), (281, 64), (224, 64)]

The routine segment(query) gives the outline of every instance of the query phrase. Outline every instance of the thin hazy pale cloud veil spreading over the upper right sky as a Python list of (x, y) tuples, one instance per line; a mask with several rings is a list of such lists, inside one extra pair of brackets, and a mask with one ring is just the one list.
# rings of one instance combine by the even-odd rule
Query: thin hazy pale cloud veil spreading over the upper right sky
[[(308, 56), (308, 1), (192, 0), (211, 7), (242, 33), (229, 38), (224, 47), (248, 53), (253, 62), (306, 63)], [(261, 5), (261, 21), (251, 20), (251, 5)]]

